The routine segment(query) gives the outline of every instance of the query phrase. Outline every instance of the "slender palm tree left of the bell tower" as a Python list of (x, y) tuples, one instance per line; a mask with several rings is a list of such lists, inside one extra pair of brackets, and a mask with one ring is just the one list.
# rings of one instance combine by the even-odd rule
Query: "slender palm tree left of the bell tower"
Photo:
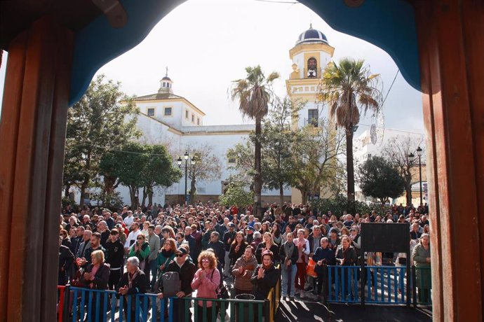
[(273, 71), (267, 78), (264, 76), (259, 65), (246, 67), (246, 78), (234, 80), (231, 87), (231, 99), (238, 99), (238, 109), (243, 116), (248, 116), (255, 120), (255, 176), (254, 176), (254, 195), (257, 199), (254, 205), (255, 216), (262, 216), (261, 209), (261, 144), (260, 134), (262, 130), (262, 118), (269, 111), (271, 100), (271, 85), (279, 78), (279, 74)]

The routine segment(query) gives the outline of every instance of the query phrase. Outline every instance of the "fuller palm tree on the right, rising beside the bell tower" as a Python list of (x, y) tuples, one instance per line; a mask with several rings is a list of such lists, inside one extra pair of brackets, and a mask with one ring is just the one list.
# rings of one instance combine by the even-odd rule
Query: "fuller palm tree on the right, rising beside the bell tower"
[[(343, 58), (340, 64), (328, 64), (321, 80), (320, 99), (328, 102), (330, 115), (336, 116), (336, 124), (344, 127), (347, 141), (347, 196), (355, 199), (354, 164), (353, 164), (353, 134), (355, 126), (360, 122), (361, 111), (368, 109), (375, 113), (379, 109), (382, 92), (379, 90), (379, 74), (372, 74), (363, 66), (363, 60), (355, 61)], [(349, 211), (354, 213), (354, 202)]]

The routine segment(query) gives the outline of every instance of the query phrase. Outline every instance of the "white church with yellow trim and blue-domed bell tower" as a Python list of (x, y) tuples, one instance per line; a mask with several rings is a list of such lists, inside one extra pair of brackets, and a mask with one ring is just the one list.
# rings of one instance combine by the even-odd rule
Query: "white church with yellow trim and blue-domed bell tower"
[[(316, 93), (318, 83), (325, 66), (330, 62), (335, 48), (328, 44), (325, 35), (312, 26), (297, 38), (289, 55), (293, 62), (293, 73), (286, 80), (288, 95), (293, 99), (304, 99), (306, 106), (299, 112), (294, 126), (302, 127), (311, 123), (317, 126), (322, 111), (318, 110)], [(222, 164), (221, 176), (212, 181), (196, 181), (196, 200), (207, 202), (217, 200), (222, 194), (222, 186), (235, 170), (229, 169), (235, 160), (227, 158), (227, 150), (248, 139), (255, 125), (203, 125), (203, 110), (192, 104), (189, 99), (174, 93), (173, 81), (168, 74), (160, 80), (158, 92), (136, 97), (135, 104), (140, 110), (137, 127), (142, 132), (140, 141), (143, 144), (163, 144), (168, 151), (177, 153), (176, 159), (182, 156), (189, 147), (198, 148), (206, 144), (212, 147)], [(184, 162), (182, 162), (184, 166)], [(182, 173), (184, 174), (183, 168)], [(188, 180), (187, 188), (190, 187)], [(181, 203), (184, 200), (185, 178), (169, 188), (157, 189), (153, 202), (156, 204)], [(123, 202), (129, 203), (130, 197), (126, 187), (118, 188)], [(286, 201), (300, 202), (298, 190), (284, 190)], [(278, 202), (278, 190), (263, 190), (262, 204)]]

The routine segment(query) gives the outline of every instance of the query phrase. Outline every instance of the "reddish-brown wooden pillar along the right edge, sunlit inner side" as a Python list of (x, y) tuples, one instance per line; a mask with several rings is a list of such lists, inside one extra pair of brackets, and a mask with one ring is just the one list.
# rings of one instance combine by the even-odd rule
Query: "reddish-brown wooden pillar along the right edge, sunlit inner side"
[(484, 1), (413, 3), (431, 197), (433, 321), (483, 321)]

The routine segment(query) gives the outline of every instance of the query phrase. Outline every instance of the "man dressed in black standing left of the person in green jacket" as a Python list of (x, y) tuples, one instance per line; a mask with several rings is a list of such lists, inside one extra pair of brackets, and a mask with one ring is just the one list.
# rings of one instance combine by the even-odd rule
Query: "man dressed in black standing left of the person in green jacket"
[(106, 257), (110, 271), (109, 290), (117, 290), (124, 264), (124, 246), (119, 240), (119, 232), (116, 228), (111, 230), (109, 240), (106, 242)]

